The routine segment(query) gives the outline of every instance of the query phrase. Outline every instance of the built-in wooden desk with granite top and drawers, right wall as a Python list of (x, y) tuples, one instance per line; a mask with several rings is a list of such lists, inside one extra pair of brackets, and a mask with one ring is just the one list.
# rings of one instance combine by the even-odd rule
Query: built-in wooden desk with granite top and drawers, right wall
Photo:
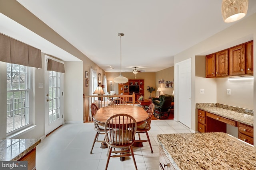
[(238, 127), (238, 138), (253, 145), (253, 110), (222, 104), (196, 104), (199, 132), (224, 132)]

